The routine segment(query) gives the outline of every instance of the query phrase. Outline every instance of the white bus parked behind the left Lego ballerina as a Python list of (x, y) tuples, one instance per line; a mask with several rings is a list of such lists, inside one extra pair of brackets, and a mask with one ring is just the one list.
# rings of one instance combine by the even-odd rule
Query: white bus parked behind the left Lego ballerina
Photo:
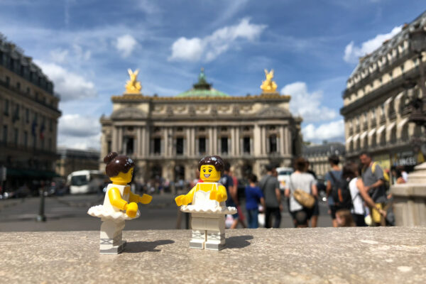
[(106, 176), (100, 170), (77, 170), (67, 177), (70, 194), (95, 193), (102, 190)]

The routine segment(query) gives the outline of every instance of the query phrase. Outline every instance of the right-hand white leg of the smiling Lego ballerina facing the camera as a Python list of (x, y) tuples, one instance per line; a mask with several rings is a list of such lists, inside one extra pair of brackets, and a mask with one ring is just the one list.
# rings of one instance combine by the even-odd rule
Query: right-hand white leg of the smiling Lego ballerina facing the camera
[(207, 241), (205, 249), (220, 251), (225, 248), (225, 217), (206, 218)]

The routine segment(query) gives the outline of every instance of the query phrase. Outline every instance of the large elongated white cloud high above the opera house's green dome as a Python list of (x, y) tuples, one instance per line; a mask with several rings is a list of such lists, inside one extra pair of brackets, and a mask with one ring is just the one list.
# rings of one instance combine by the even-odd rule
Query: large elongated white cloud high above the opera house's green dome
[(243, 18), (235, 26), (226, 26), (214, 31), (204, 38), (185, 38), (175, 40), (168, 58), (173, 61), (212, 61), (217, 56), (236, 45), (237, 40), (255, 40), (261, 35), (266, 25), (250, 23), (249, 18)]

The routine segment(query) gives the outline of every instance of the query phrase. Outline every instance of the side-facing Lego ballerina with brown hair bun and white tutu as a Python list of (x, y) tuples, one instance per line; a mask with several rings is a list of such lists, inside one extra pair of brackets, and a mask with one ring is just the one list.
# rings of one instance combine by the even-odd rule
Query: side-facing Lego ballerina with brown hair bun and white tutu
[(102, 218), (100, 253), (117, 254), (123, 251), (126, 241), (122, 241), (124, 221), (138, 218), (138, 202), (148, 204), (151, 195), (135, 195), (130, 191), (135, 163), (125, 155), (115, 152), (109, 153), (104, 158), (107, 164), (105, 171), (112, 183), (107, 187), (103, 205), (91, 207), (87, 214)]

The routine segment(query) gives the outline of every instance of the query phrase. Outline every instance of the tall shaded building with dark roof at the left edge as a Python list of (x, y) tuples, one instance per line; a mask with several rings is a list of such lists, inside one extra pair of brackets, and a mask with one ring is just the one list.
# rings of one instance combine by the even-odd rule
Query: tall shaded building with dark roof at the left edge
[(58, 102), (40, 67), (0, 35), (0, 165), (7, 168), (6, 190), (55, 176)]

